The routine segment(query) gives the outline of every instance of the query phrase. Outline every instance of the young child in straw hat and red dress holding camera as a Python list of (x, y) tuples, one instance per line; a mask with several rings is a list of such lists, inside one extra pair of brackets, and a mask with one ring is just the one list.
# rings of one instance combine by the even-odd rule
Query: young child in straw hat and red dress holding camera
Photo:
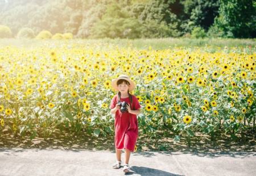
[[(130, 171), (129, 158), (131, 152), (134, 152), (135, 144), (138, 137), (138, 121), (137, 115), (141, 112), (141, 105), (135, 95), (131, 95), (129, 91), (135, 88), (135, 83), (126, 75), (121, 75), (117, 79), (112, 80), (112, 86), (118, 91), (118, 94), (114, 95), (110, 108), (111, 113), (115, 114), (115, 154), (117, 162), (113, 165), (114, 169), (121, 167), (121, 153), (122, 149), (125, 149), (125, 164), (123, 165), (123, 171), (125, 173)], [(118, 102), (126, 102), (127, 111), (121, 111)]]

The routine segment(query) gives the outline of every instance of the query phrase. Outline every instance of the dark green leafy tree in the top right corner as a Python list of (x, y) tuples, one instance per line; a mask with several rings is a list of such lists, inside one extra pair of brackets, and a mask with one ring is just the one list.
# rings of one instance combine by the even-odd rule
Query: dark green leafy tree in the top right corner
[(220, 1), (220, 15), (214, 25), (223, 37), (255, 37), (256, 5), (253, 0)]

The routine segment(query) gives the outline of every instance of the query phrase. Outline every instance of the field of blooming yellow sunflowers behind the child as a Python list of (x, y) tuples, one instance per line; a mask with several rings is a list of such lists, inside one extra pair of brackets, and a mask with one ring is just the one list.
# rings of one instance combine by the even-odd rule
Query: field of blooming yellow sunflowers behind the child
[[(146, 49), (51, 41), (0, 47), (0, 137), (56, 131), (114, 135), (111, 81), (135, 81), (139, 137), (155, 143), (200, 132), (231, 136), (255, 128), (256, 53), (236, 47)], [(138, 146), (141, 148), (141, 146)]]

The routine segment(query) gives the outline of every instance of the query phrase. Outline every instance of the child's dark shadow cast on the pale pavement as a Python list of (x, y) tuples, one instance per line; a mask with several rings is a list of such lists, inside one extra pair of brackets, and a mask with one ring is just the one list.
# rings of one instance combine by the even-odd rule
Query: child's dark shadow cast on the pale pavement
[(158, 169), (152, 169), (149, 167), (138, 167), (138, 166), (131, 166), (130, 167), (131, 172), (126, 173), (125, 175), (133, 175), (133, 174), (139, 174), (139, 175), (165, 175), (165, 176), (180, 176), (179, 174), (172, 174), (168, 173), (167, 171), (158, 170)]

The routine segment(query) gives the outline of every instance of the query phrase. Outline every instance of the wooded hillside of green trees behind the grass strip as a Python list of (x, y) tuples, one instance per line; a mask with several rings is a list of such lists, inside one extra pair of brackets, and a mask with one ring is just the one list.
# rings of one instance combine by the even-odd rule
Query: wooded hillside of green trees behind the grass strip
[(20, 0), (0, 2), (0, 24), (11, 28), (9, 37), (26, 26), (79, 38), (190, 36), (195, 27), (210, 37), (241, 38), (255, 37), (255, 9), (253, 0)]

